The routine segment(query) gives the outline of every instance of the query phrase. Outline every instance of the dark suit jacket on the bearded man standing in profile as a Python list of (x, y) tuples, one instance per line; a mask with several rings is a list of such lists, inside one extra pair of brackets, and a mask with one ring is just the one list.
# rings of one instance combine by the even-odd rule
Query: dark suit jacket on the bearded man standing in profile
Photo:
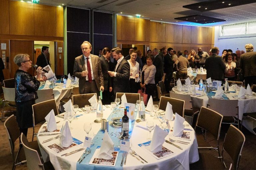
[(113, 77), (114, 95), (117, 92), (129, 92), (130, 65), (126, 59), (122, 59), (116, 69), (116, 77)]

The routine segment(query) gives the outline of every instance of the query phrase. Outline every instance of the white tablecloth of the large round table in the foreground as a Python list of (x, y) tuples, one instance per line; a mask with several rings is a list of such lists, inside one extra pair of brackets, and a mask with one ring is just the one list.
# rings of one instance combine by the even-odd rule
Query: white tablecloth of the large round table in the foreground
[[(108, 106), (110, 106), (110, 105), (108, 105)], [(109, 117), (109, 115), (111, 114), (112, 110), (109, 107), (106, 107), (105, 105), (103, 106), (103, 109), (104, 109), (103, 118), (107, 119)], [(94, 120), (96, 119), (95, 112), (92, 112), (90, 114), (85, 114), (79, 109), (79, 111), (77, 112), (77, 115), (79, 115), (79, 114), (82, 116), (78, 117), (77, 120), (73, 120), (71, 123), (72, 128), (73, 128), (73, 129), (71, 129), (71, 135), (72, 135), (72, 137), (84, 142), (84, 138), (85, 138), (85, 134), (86, 134), (85, 131), (83, 130), (84, 122), (91, 122), (91, 124), (92, 124), (91, 131), (93, 131), (94, 134), (97, 134), (98, 132), (100, 133), (99, 130), (101, 128), (101, 124), (94, 123)], [(56, 122), (60, 121), (60, 123), (57, 124), (58, 129), (60, 129), (64, 123), (64, 120), (57, 116), (55, 118), (56, 118)], [(137, 119), (138, 119), (138, 115), (137, 115)], [(150, 115), (148, 113), (146, 113), (146, 121), (153, 121), (155, 125), (160, 124), (160, 122), (158, 120), (154, 120), (153, 117), (150, 117)], [(172, 128), (174, 121), (169, 121), (169, 123)], [(168, 157), (164, 157), (162, 159), (156, 159), (153, 156), (146, 153), (143, 148), (138, 146), (138, 144), (148, 141), (146, 138), (149, 135), (149, 131), (147, 131), (146, 129), (141, 128), (137, 125), (140, 125), (140, 126), (146, 128), (146, 122), (140, 122), (140, 123), (135, 122), (133, 131), (132, 131), (132, 135), (131, 135), (132, 149), (135, 150), (136, 153), (139, 154), (142, 158), (147, 160), (148, 163), (141, 163), (135, 157), (132, 157), (130, 154), (128, 154), (127, 162), (126, 162), (126, 165), (123, 166), (123, 169), (127, 169), (127, 170), (161, 169), (162, 170), (162, 169), (170, 169), (170, 167), (172, 167), (172, 169), (189, 169), (190, 163), (194, 163), (199, 160), (198, 149), (197, 149), (198, 145), (197, 145), (197, 141), (195, 138), (195, 131), (191, 126), (185, 126), (185, 128), (191, 129), (191, 131), (190, 131), (191, 140), (183, 140), (183, 141), (190, 142), (190, 143), (188, 145), (175, 143), (175, 144), (181, 146), (183, 148), (183, 150), (180, 150), (179, 148), (164, 142), (163, 146), (166, 147), (167, 149), (171, 150), (172, 152), (174, 152), (174, 154), (170, 155)], [(189, 125), (189, 124), (185, 121), (184, 125)], [(39, 132), (41, 131), (43, 126), (46, 126), (46, 124), (43, 124), (41, 126), (41, 128), (39, 129)], [(43, 132), (43, 133), (49, 133), (49, 132)], [(43, 133), (38, 133), (38, 135), (43, 134)], [(57, 132), (50, 132), (50, 133), (57, 133)], [(151, 135), (152, 134), (153, 134), (153, 131), (151, 132)], [(61, 155), (83, 147), (82, 144), (71, 147), (67, 150), (64, 150), (64, 151), (56, 154), (51, 149), (49, 149), (47, 146), (52, 145), (54, 143), (59, 144), (60, 143), (59, 139), (54, 139), (52, 141), (42, 143), (42, 141), (47, 140), (51, 137), (55, 137), (56, 135), (54, 135), (54, 136), (52, 136), (52, 135), (51, 136), (38, 136), (38, 135), (37, 135), (37, 140), (38, 140), (44, 161), (50, 160), (56, 170), (57, 169), (72, 169), (72, 170), (77, 169), (77, 166), (76, 166), (77, 160), (80, 158), (80, 156), (82, 155), (84, 150), (74, 153), (70, 156), (61, 156)], [(170, 136), (167, 135), (165, 139), (168, 139), (169, 137)], [(113, 142), (116, 145), (118, 140), (116, 137), (115, 137), (115, 139), (116, 139), (116, 141), (113, 140)], [(94, 140), (102, 140), (102, 139), (95, 138)], [(93, 154), (93, 153), (91, 153), (91, 154)], [(119, 156), (121, 156), (120, 152), (118, 154), (118, 157)], [(85, 158), (85, 160), (86, 160), (86, 158)], [(98, 166), (98, 165), (93, 165), (93, 166), (96, 166), (96, 167), (94, 167), (94, 169), (105, 169), (105, 167), (106, 167), (106, 166)], [(119, 166), (119, 167), (117, 167), (117, 166)], [(118, 165), (116, 164), (115, 167), (107, 167), (107, 169), (109, 169), (109, 168), (110, 169), (111, 168), (112, 169), (120, 169), (120, 163)], [(83, 168), (83, 169), (86, 169), (86, 168)], [(93, 168), (91, 168), (91, 169), (93, 169)]]

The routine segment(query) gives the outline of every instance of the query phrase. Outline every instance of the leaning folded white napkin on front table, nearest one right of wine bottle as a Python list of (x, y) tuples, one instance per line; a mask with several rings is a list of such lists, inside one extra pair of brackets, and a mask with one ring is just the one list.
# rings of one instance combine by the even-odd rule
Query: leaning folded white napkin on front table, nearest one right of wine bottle
[(168, 135), (168, 132), (159, 128), (157, 125), (155, 127), (153, 137), (150, 143), (150, 151), (151, 152), (158, 152), (162, 151), (162, 146), (165, 141), (165, 136)]

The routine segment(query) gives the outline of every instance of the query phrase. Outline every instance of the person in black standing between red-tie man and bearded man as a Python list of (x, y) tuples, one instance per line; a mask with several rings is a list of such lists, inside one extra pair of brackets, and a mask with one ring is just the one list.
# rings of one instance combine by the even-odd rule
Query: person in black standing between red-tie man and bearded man
[(114, 71), (115, 65), (114, 63), (110, 62), (109, 58), (111, 55), (111, 50), (108, 47), (103, 48), (102, 54), (100, 57), (100, 64), (102, 69), (102, 74), (104, 78), (104, 91), (103, 91), (103, 99), (102, 104), (108, 105), (110, 104), (111, 100), (111, 92), (113, 86), (113, 77), (108, 74), (108, 71)]

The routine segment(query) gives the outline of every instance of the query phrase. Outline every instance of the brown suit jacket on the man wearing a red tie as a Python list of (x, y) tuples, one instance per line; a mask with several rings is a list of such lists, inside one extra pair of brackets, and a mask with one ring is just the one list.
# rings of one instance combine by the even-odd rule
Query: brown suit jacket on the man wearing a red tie
[[(100, 59), (99, 56), (91, 54), (91, 61), (92, 61), (92, 70), (95, 82), (97, 84), (98, 90), (100, 91), (100, 86), (104, 86), (104, 79), (102, 75), (101, 65), (100, 65)], [(84, 93), (84, 86), (86, 82), (86, 77), (82, 77), (81, 73), (82, 71), (85, 71), (85, 60), (84, 55), (80, 55), (75, 58), (74, 63), (74, 72), (73, 74), (79, 78), (79, 93)]]

